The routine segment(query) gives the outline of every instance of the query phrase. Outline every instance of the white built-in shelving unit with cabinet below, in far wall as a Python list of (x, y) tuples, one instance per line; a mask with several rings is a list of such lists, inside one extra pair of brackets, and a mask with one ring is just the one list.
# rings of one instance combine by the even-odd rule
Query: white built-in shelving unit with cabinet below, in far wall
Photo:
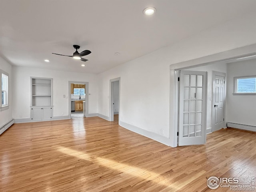
[(52, 78), (31, 77), (31, 119), (52, 118)]

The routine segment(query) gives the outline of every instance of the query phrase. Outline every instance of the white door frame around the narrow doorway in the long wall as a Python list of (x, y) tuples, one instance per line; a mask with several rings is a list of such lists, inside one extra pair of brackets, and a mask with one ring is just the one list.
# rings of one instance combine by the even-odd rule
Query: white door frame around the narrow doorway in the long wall
[(114, 121), (114, 107), (113, 107), (113, 100), (114, 100), (114, 82), (118, 81), (119, 82), (119, 99), (118, 99), (118, 124), (120, 121), (120, 83), (121, 83), (121, 78), (114, 78), (114, 79), (110, 79), (110, 92), (109, 92), (109, 98), (110, 98), (110, 103), (109, 103), (109, 119), (110, 121)]

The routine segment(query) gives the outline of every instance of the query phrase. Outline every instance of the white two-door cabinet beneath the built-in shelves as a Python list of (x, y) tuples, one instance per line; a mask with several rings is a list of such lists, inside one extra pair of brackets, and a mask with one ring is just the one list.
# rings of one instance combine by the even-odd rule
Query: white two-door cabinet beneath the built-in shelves
[(52, 119), (52, 106), (31, 107), (31, 120), (46, 121)]

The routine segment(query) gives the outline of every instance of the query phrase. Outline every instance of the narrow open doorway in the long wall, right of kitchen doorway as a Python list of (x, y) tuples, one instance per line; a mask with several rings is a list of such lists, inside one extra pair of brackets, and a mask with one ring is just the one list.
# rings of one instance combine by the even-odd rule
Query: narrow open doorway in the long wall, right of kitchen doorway
[(110, 80), (110, 121), (120, 119), (120, 78)]

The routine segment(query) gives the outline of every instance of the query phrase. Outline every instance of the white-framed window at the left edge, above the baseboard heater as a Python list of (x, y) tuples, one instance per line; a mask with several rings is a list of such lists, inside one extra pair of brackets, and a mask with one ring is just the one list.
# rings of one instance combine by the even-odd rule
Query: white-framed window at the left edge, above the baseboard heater
[(9, 74), (1, 70), (1, 111), (9, 108), (8, 81), (9, 81)]

